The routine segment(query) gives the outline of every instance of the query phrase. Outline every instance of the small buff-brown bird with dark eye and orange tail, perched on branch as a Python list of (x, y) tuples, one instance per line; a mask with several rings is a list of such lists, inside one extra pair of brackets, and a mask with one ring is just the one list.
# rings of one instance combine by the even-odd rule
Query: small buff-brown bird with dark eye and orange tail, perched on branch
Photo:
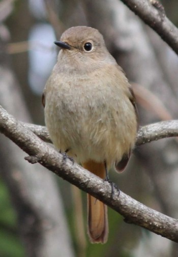
[[(54, 146), (102, 179), (111, 166), (122, 172), (137, 132), (135, 99), (122, 68), (95, 28), (71, 27), (54, 43), (61, 51), (43, 94)], [(90, 240), (105, 243), (107, 207), (87, 199)]]

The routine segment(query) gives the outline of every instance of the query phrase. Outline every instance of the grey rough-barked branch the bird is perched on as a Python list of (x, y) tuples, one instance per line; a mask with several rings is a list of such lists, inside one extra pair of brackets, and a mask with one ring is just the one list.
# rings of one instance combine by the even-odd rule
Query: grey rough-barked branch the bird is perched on
[(122, 191), (118, 194), (115, 188), (111, 195), (111, 186), (108, 182), (103, 182), (102, 179), (78, 164), (73, 164), (71, 160), (64, 160), (62, 154), (45, 144), (1, 106), (0, 131), (29, 155), (27, 157), (29, 161), (38, 161), (56, 175), (97, 197), (123, 215), (126, 222), (140, 225), (158, 235), (178, 242), (178, 221), (176, 219), (142, 205)]

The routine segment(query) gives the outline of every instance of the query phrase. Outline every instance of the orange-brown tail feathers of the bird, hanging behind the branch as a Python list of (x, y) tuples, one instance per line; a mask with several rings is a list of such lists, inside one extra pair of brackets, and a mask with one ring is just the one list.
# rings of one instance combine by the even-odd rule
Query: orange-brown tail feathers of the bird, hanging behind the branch
[[(105, 179), (104, 163), (88, 161), (83, 167), (98, 177)], [(108, 238), (107, 206), (92, 195), (87, 195), (88, 235), (91, 243), (106, 243)]]

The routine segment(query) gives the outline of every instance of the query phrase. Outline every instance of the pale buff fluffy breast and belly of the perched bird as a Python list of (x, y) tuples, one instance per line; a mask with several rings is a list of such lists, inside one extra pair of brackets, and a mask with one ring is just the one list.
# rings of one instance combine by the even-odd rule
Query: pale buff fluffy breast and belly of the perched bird
[(84, 76), (76, 80), (60, 76), (50, 83), (53, 89), (46, 94), (45, 106), (55, 147), (69, 149), (78, 162), (106, 160), (110, 166), (120, 161), (134, 146), (137, 125), (133, 105), (118, 87), (119, 81), (112, 76), (108, 83), (104, 77), (97, 80), (98, 76), (95, 83)]

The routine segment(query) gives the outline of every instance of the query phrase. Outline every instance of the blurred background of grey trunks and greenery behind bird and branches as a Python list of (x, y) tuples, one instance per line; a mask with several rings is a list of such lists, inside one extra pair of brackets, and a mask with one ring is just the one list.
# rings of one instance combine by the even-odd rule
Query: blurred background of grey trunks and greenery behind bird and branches
[[(162, 1), (178, 24), (176, 0)], [(56, 62), (53, 41), (74, 25), (97, 28), (136, 95), (139, 123), (178, 118), (177, 55), (119, 0), (2, 0), (0, 104), (18, 120), (44, 125), (41, 95)], [(177, 244), (127, 224), (109, 209), (109, 240), (86, 236), (86, 194), (0, 135), (0, 257), (174, 257)], [(136, 148), (118, 187), (141, 203), (178, 218), (178, 145), (173, 138)], [(83, 202), (81, 215), (80, 197)]]

